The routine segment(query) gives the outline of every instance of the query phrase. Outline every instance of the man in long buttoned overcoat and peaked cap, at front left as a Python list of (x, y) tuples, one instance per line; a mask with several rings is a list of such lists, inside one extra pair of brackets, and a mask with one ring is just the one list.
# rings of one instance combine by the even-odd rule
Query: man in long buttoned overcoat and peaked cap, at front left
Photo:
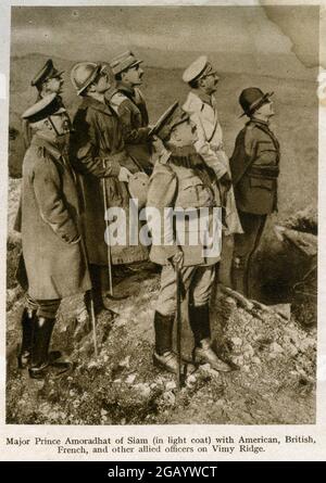
[(52, 93), (23, 118), (35, 135), (23, 161), (22, 246), (28, 288), (18, 365), (40, 379), (52, 364), (68, 368), (60, 353), (49, 353), (55, 314), (61, 298), (89, 290), (90, 279), (75, 177), (58, 142), (70, 129), (66, 111)]

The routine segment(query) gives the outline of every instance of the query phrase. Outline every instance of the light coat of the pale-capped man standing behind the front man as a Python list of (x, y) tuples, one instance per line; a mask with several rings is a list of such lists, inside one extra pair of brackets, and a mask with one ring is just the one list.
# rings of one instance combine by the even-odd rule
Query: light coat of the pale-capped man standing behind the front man
[[(190, 91), (183, 105), (197, 126), (197, 152), (208, 166), (214, 169), (217, 180), (226, 173), (230, 176), (229, 161), (223, 145), (223, 132), (218, 122), (216, 100), (214, 96), (204, 96)], [(222, 200), (220, 200), (222, 203)], [(233, 187), (228, 190), (225, 202), (227, 229), (225, 234), (242, 233)]]

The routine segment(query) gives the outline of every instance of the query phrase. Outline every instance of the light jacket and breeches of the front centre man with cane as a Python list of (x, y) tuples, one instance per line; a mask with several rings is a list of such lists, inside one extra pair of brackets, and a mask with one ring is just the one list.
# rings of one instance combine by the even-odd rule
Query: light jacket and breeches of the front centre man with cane
[[(171, 153), (159, 160), (149, 186), (148, 202), (149, 207), (155, 207), (164, 219), (165, 207), (179, 207), (183, 209), (199, 209), (201, 207), (216, 206), (218, 195), (214, 174), (205, 167), (198, 154), (198, 167), (187, 167), (180, 165), (176, 156)], [(210, 214), (212, 217), (212, 214)], [(211, 225), (211, 224), (210, 224)], [(155, 227), (153, 226), (153, 229)], [(196, 245), (190, 244), (189, 230), (191, 224), (186, 223), (186, 240), (181, 246), (184, 263), (181, 278), (186, 291), (189, 291), (191, 303), (195, 306), (202, 306), (209, 303), (212, 284), (215, 275), (215, 264), (220, 262), (220, 255), (205, 257), (204, 246), (200, 240)], [(161, 289), (156, 303), (156, 310), (166, 316), (173, 316), (176, 310), (175, 270), (171, 267), (168, 258), (177, 251), (175, 241), (175, 229), (171, 224), (162, 226), (162, 244), (152, 244), (150, 259), (162, 265)], [(174, 241), (166, 244), (166, 241)]]

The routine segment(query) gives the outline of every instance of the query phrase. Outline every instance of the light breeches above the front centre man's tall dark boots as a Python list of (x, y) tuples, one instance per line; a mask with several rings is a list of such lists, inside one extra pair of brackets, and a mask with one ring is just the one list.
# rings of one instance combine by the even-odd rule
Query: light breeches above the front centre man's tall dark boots
[[(215, 265), (197, 265), (180, 269), (183, 291), (189, 291), (190, 304), (199, 307), (210, 302), (215, 268)], [(162, 269), (156, 310), (166, 316), (172, 316), (176, 312), (176, 274), (170, 265), (165, 265)]]

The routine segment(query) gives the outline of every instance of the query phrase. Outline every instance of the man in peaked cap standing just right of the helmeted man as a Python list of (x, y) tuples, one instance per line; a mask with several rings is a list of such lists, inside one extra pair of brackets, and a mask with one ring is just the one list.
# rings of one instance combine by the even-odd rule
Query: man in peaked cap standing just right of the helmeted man
[(124, 131), (128, 154), (140, 169), (152, 171), (149, 117), (146, 100), (138, 86), (142, 84), (143, 69), (133, 52), (114, 58), (110, 65), (116, 79), (116, 90), (110, 93), (110, 103), (116, 111)]

